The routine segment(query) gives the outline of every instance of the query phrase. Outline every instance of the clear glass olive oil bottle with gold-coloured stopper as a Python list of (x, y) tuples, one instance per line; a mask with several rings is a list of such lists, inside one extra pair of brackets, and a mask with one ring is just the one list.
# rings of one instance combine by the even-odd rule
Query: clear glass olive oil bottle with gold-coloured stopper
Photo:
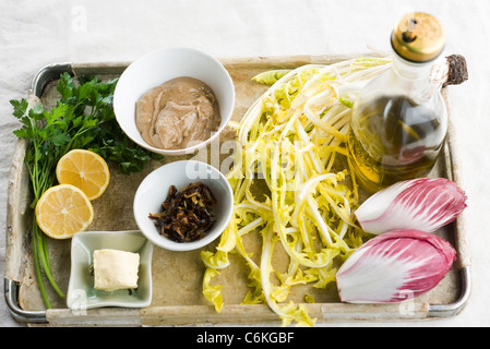
[(431, 62), (444, 40), (444, 29), (433, 16), (404, 16), (392, 34), (391, 70), (361, 89), (352, 108), (348, 148), (356, 178), (367, 191), (423, 177), (432, 169), (447, 131), (445, 103), (430, 80)]

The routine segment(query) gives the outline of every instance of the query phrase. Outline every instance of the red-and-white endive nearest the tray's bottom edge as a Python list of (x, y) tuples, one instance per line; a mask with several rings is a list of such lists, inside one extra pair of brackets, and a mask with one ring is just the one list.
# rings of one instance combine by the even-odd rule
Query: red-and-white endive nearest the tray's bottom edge
[(456, 251), (446, 240), (419, 230), (374, 237), (356, 250), (337, 272), (340, 300), (390, 303), (434, 288), (451, 269)]

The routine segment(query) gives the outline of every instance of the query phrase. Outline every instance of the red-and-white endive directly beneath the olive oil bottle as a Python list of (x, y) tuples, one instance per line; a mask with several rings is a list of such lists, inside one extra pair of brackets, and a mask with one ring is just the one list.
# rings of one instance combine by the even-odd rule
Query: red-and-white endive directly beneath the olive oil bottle
[(433, 232), (466, 207), (466, 194), (444, 178), (395, 183), (364, 201), (355, 212), (361, 228), (379, 234), (396, 229)]

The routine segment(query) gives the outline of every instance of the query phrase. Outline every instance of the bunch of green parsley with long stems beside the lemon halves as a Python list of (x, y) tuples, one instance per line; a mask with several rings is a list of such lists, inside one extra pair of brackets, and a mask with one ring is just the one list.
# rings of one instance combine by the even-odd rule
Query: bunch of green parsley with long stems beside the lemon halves
[[(123, 173), (138, 172), (151, 159), (160, 159), (128, 139), (120, 129), (112, 108), (113, 91), (118, 80), (101, 82), (96, 76), (79, 77), (76, 84), (63, 73), (57, 89), (60, 98), (47, 110), (41, 104), (28, 107), (25, 99), (11, 100), (13, 116), (23, 127), (13, 133), (29, 140), (24, 163), (28, 168), (34, 208), (43, 193), (56, 182), (56, 166), (68, 152), (85, 148), (113, 161)], [(47, 308), (51, 308), (43, 282), (44, 270), (55, 291), (64, 297), (52, 278), (46, 236), (33, 221), (33, 250), (39, 289)]]

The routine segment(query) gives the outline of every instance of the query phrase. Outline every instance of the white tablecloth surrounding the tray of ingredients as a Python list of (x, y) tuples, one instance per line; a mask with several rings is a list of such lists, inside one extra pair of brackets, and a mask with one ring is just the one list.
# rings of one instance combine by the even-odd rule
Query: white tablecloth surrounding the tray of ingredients
[[(463, 155), (462, 186), (468, 195), (464, 215), (473, 293), (455, 317), (368, 325), (490, 325), (487, 0), (0, 0), (0, 272), (3, 274), (7, 184), (16, 140), (12, 130), (19, 127), (9, 100), (26, 96), (41, 67), (63, 61), (132, 61), (172, 46), (194, 47), (215, 57), (357, 53), (367, 51), (368, 46), (389, 50), (396, 20), (419, 10), (444, 23), (444, 53), (464, 55), (469, 67), (469, 81), (450, 88), (454, 91), (455, 142)], [(0, 325), (20, 325), (4, 302), (0, 302)]]

